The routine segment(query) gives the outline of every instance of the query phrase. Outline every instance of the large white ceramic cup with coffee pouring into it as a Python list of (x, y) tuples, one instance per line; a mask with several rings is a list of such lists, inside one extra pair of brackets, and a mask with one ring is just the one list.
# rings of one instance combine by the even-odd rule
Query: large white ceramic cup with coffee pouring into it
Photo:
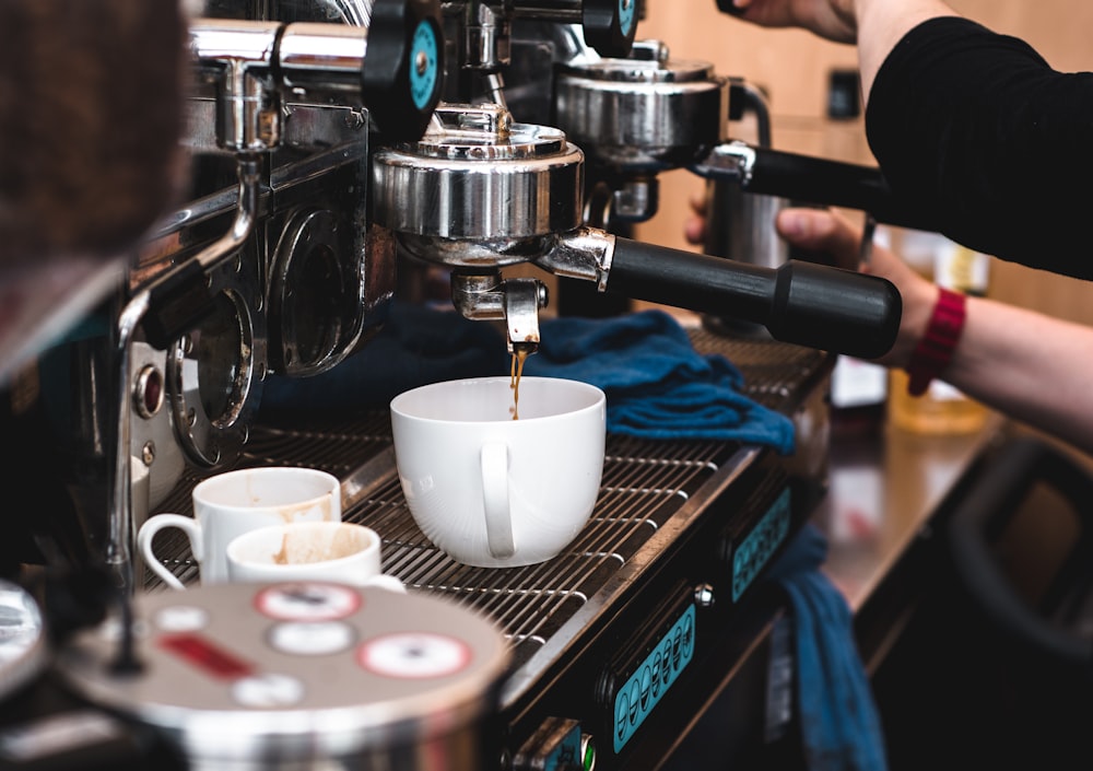
[(585, 526), (599, 495), (607, 399), (596, 386), (522, 377), (434, 383), (391, 400), (399, 480), (422, 533), (458, 562), (548, 560)]

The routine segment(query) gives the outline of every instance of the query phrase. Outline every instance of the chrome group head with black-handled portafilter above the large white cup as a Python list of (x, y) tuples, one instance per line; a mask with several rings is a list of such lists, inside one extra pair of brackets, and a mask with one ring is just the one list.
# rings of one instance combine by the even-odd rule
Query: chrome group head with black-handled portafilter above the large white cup
[[(416, 145), (377, 152), (373, 164), (376, 221), (421, 259), (480, 274), (528, 261), (601, 291), (734, 316), (785, 342), (863, 359), (895, 341), (902, 300), (884, 279), (798, 261), (738, 264), (588, 227), (584, 154), (562, 131), (514, 124), (497, 105), (437, 114), (439, 128)], [(466, 315), (484, 304), (457, 308)], [(510, 346), (519, 342), (512, 329)]]

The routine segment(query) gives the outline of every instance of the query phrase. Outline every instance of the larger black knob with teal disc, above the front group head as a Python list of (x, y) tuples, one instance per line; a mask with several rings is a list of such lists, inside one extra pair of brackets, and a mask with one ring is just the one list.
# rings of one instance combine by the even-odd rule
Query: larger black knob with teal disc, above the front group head
[(421, 138), (440, 100), (444, 34), (438, 0), (376, 0), (361, 97), (386, 137)]

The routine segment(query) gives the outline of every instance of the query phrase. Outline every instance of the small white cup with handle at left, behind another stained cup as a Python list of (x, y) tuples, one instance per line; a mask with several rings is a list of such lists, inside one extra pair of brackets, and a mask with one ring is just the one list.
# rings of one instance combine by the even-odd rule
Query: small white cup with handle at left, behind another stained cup
[(184, 588), (152, 551), (152, 538), (177, 527), (190, 541), (202, 584), (223, 583), (227, 545), (237, 536), (289, 522), (341, 522), (341, 482), (313, 468), (240, 468), (210, 477), (193, 488), (193, 516), (156, 514), (137, 531), (145, 564), (165, 584)]

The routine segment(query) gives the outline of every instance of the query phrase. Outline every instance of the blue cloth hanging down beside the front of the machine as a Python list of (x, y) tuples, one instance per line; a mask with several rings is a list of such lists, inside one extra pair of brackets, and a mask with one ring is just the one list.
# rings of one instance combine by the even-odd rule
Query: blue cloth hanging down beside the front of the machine
[(821, 570), (827, 540), (806, 525), (771, 566), (789, 595), (798, 714), (809, 771), (884, 771), (884, 736), (846, 598)]

